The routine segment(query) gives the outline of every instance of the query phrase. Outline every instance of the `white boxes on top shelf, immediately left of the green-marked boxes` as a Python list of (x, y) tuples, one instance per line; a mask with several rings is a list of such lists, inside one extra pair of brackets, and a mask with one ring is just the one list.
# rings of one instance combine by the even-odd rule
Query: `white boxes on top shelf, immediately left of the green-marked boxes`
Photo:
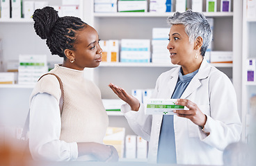
[(95, 0), (94, 12), (118, 12), (118, 0)]

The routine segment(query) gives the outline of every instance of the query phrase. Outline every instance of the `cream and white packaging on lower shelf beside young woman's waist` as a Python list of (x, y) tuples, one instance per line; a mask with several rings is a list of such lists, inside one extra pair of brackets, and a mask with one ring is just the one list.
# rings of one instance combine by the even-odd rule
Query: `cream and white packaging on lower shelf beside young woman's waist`
[(118, 151), (119, 158), (123, 158), (125, 151), (125, 127), (108, 127), (103, 139), (105, 145), (113, 145)]

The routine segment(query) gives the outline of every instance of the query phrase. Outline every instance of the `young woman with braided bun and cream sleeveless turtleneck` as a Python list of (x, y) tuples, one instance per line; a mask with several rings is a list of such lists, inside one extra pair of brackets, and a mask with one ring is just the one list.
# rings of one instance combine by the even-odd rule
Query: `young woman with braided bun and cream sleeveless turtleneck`
[(102, 61), (97, 31), (77, 17), (58, 17), (51, 7), (35, 10), (35, 33), (46, 39), (52, 55), (63, 57), (31, 93), (29, 147), (35, 160), (116, 161), (114, 147), (103, 144), (108, 116), (99, 88), (83, 77), (83, 68), (95, 68)]

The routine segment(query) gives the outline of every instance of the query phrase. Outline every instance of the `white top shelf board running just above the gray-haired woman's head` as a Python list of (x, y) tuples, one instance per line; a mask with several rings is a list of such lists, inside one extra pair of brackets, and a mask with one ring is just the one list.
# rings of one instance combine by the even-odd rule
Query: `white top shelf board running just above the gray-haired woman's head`
[[(94, 17), (168, 17), (175, 12), (95, 12)], [(205, 17), (233, 17), (233, 12), (202, 12)]]

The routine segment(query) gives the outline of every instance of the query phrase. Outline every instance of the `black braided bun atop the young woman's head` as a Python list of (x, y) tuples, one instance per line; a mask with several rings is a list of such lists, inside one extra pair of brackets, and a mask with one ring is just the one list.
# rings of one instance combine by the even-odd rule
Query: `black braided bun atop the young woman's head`
[(54, 27), (58, 18), (58, 12), (52, 7), (47, 6), (45, 8), (35, 10), (33, 14), (33, 20), (35, 21), (35, 33), (40, 36), (41, 39), (49, 38), (51, 35), (51, 29)]

